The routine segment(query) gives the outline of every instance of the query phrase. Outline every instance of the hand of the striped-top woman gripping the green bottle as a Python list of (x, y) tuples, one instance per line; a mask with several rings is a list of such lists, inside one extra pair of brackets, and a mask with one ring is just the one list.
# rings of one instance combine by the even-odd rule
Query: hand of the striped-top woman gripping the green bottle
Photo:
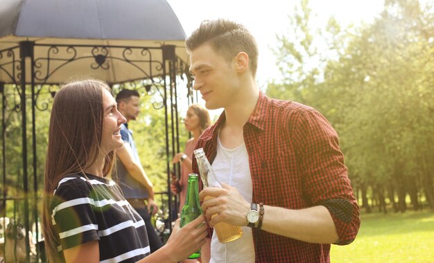
[(205, 215), (200, 215), (182, 228), (180, 228), (180, 219), (177, 219), (166, 246), (173, 251), (172, 254), (177, 257), (177, 261), (182, 261), (205, 244), (205, 237), (207, 237)]

